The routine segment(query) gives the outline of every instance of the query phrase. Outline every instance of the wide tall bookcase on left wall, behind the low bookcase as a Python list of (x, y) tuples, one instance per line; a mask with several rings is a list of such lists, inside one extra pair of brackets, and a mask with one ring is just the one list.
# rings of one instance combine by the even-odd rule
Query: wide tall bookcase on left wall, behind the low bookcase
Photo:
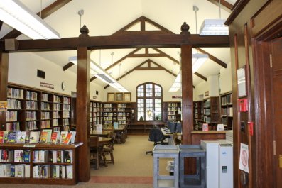
[(5, 131), (69, 131), (71, 98), (63, 94), (9, 84)]

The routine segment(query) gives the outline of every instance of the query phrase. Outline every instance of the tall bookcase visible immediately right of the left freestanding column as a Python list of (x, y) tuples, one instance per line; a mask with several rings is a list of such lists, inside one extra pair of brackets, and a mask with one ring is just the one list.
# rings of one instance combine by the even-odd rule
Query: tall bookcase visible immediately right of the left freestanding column
[(90, 128), (97, 124), (103, 124), (103, 104), (99, 101), (90, 101)]

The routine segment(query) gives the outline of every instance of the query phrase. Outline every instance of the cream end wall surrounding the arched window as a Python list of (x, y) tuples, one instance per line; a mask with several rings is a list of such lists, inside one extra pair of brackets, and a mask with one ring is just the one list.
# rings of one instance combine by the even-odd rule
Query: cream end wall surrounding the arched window
[[(174, 82), (175, 77), (165, 72), (163, 70), (153, 70), (153, 71), (141, 71), (137, 70), (131, 72), (126, 77), (119, 80), (119, 83), (123, 85), (129, 92), (131, 92), (131, 101), (136, 101), (136, 87), (144, 82), (153, 82), (160, 84), (163, 88), (163, 101), (180, 101), (181, 99), (172, 99), (172, 96), (180, 96), (181, 91), (178, 92), (168, 92), (171, 85)], [(104, 100), (107, 101), (108, 92), (118, 92), (112, 87), (105, 89)]]

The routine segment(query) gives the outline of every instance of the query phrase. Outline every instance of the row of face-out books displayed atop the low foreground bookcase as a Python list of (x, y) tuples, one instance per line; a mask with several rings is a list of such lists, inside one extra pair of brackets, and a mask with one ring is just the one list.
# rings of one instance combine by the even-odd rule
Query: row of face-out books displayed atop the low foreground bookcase
[(0, 131), (0, 143), (75, 143), (75, 131)]

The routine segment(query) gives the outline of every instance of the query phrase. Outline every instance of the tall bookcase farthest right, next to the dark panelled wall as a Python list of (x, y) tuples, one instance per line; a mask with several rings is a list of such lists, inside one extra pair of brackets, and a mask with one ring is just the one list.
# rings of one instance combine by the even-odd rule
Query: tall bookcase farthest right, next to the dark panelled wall
[(233, 106), (232, 106), (232, 93), (222, 94), (221, 101), (221, 114), (222, 124), (224, 129), (232, 130), (233, 128)]

